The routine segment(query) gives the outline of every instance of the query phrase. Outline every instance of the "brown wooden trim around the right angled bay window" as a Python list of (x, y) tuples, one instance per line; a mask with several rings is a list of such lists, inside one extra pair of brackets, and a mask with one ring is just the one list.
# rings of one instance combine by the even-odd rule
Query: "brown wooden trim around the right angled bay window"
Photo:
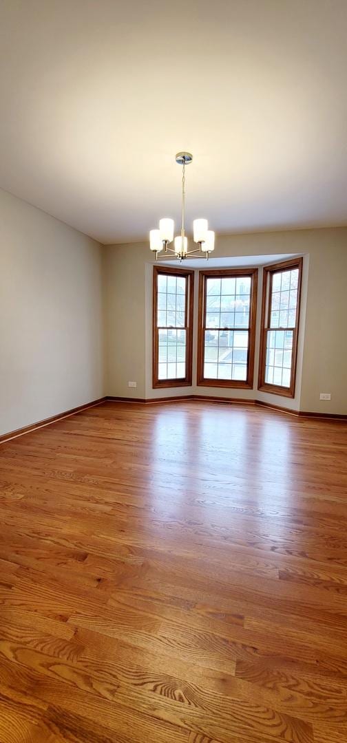
[[(272, 279), (274, 273), (281, 273), (283, 270), (298, 268), (298, 295), (296, 303), (296, 319), (295, 328), (270, 328), (269, 317), (270, 317), (270, 299), (272, 294)], [(296, 258), (290, 261), (283, 261), (279, 263), (273, 263), (269, 266), (263, 267), (263, 282), (262, 282), (262, 325), (260, 331), (260, 345), (259, 345), (259, 377), (258, 377), (258, 389), (261, 392), (270, 392), (271, 395), (280, 395), (282, 398), (294, 398), (295, 397), (295, 385), (296, 385), (296, 360), (297, 360), (297, 348), (298, 348), (298, 337), (299, 337), (299, 318), (300, 318), (300, 303), (301, 303), (301, 286), (302, 286), (302, 258)], [(291, 386), (281, 387), (276, 384), (269, 384), (265, 382), (265, 361), (266, 361), (266, 338), (267, 331), (269, 330), (292, 330), (293, 331), (293, 355), (291, 363)]]

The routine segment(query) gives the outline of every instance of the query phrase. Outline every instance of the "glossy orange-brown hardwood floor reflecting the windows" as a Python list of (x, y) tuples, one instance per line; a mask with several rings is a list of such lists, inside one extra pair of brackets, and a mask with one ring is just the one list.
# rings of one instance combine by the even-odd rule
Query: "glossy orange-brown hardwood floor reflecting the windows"
[(103, 403), (0, 447), (1, 743), (346, 743), (347, 426)]

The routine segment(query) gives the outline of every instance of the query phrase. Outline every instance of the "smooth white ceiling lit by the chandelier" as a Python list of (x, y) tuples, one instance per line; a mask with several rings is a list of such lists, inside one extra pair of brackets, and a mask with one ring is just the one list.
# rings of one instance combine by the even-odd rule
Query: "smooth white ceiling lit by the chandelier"
[(346, 0), (1, 0), (0, 186), (102, 242), (347, 224)]

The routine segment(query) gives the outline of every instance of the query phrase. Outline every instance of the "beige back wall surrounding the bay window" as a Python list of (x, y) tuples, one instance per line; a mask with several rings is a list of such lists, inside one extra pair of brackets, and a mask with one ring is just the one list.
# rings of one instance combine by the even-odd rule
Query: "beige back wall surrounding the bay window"
[[(215, 257), (230, 257), (232, 265), (233, 256), (268, 255), (271, 262), (271, 254), (279, 253), (298, 253), (305, 259), (295, 400), (265, 395), (256, 389), (248, 394), (195, 386), (152, 390), (152, 256), (146, 242), (104, 248), (106, 394), (129, 398), (191, 392), (233, 398), (256, 396), (305, 411), (346, 414), (347, 229), (222, 236), (216, 242)], [(137, 389), (129, 389), (128, 380), (137, 381)], [(320, 401), (320, 392), (330, 392), (331, 401)]]

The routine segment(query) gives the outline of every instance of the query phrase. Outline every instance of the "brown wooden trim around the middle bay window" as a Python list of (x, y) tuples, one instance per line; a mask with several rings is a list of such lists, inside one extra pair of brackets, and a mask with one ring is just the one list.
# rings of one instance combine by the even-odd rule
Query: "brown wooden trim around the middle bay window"
[[(199, 272), (198, 296), (198, 369), (197, 383), (202, 387), (233, 387), (234, 389), (253, 389), (254, 354), (256, 347), (256, 296), (258, 287), (258, 268), (222, 268), (202, 270)], [(215, 279), (224, 276), (250, 277), (250, 327), (247, 354), (247, 380), (205, 379), (204, 378), (204, 330), (206, 315), (206, 280), (213, 276)], [(245, 330), (246, 328), (243, 328)]]

